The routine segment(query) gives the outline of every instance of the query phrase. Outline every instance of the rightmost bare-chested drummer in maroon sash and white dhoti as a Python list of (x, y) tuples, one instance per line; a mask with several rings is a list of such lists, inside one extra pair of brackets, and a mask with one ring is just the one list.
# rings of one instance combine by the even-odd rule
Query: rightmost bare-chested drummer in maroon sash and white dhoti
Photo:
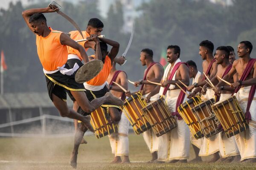
[[(250, 57), (253, 45), (249, 41), (241, 41), (237, 47), (239, 59), (233, 62), (229, 73), (223, 77), (228, 81), (237, 74), (239, 81), (231, 84), (236, 88), (237, 100), (249, 122), (249, 129), (235, 136), (241, 155), (241, 161), (256, 162), (256, 59)], [(221, 87), (224, 82), (219, 82)]]

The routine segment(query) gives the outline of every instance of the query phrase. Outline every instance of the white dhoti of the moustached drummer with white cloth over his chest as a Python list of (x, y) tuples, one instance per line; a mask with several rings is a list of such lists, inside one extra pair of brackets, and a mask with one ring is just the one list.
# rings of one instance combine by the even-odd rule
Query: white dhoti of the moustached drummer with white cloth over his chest
[[(179, 94), (180, 89), (167, 91), (166, 103), (171, 112), (175, 112)], [(176, 120), (177, 127), (159, 137), (158, 161), (189, 159), (189, 127), (183, 119)]]

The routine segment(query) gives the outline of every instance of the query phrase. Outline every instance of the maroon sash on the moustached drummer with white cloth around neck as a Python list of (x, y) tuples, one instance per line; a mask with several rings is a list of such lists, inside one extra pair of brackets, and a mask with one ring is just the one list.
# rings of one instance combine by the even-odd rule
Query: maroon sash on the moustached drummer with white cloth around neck
[[(180, 67), (181, 64), (185, 64), (187, 67), (188, 64), (186, 62), (177, 62), (177, 64), (172, 68), (172, 72), (168, 78), (168, 80), (172, 80), (172, 77), (174, 76), (175, 72), (177, 71), (177, 69)], [(170, 85), (167, 85), (164, 90), (163, 90), (163, 95), (166, 95), (168, 89), (169, 89)], [(186, 88), (183, 87), (182, 88), (184, 91), (186, 91)], [(177, 102), (176, 102), (176, 109), (175, 109), (175, 112), (172, 112), (172, 116), (177, 116), (177, 119), (178, 120), (181, 120), (182, 117), (180, 116), (180, 114), (178, 113), (177, 109), (178, 107), (182, 104), (183, 100), (185, 98), (185, 93), (183, 91), (180, 91), (180, 94), (178, 96), (178, 99), (177, 99)]]

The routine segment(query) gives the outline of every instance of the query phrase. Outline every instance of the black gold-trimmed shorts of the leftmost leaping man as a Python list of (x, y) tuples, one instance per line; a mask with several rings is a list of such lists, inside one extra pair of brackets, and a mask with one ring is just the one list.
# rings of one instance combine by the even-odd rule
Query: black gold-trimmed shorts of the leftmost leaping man
[[(70, 69), (68, 65), (65, 65), (65, 68)], [(45, 74), (45, 77), (48, 94), (51, 100), (52, 94), (66, 101), (67, 91), (86, 91), (83, 84), (75, 81), (75, 74), (69, 76), (57, 71), (53, 74)]]

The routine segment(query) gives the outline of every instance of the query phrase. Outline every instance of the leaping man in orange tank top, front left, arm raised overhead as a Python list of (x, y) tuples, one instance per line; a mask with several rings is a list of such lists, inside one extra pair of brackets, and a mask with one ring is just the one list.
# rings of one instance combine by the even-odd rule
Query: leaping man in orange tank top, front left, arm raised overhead
[[(89, 102), (82, 84), (75, 81), (76, 70), (68, 67), (67, 46), (71, 46), (79, 51), (81, 56), (88, 61), (88, 57), (81, 45), (72, 40), (67, 34), (61, 31), (53, 30), (47, 26), (46, 18), (42, 13), (58, 11), (57, 6), (46, 8), (32, 8), (22, 12), (23, 18), (29, 29), (36, 34), (36, 45), (38, 57), (43, 66), (47, 81), (49, 97), (61, 116), (67, 116), (71, 119), (78, 119), (84, 123), (85, 127), (93, 130), (90, 120), (86, 116), (73, 111), (67, 107), (67, 90), (77, 99), (81, 109), (86, 112), (92, 112), (104, 102), (111, 100), (117, 105), (122, 105), (122, 100), (114, 97), (111, 93), (106, 94), (100, 99)], [(64, 68), (70, 71), (63, 71)]]

